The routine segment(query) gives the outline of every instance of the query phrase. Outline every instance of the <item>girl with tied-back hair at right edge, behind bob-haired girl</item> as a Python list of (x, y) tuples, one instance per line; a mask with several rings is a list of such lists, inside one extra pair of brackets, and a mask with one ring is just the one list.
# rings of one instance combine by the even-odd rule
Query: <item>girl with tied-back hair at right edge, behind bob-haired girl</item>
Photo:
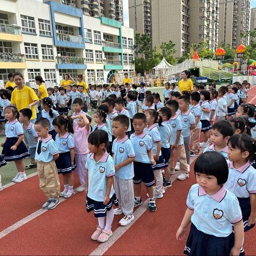
[(235, 194), (243, 214), (244, 231), (255, 226), (256, 170), (250, 165), (256, 159), (256, 142), (247, 134), (236, 134), (228, 140), (229, 174), (225, 187)]

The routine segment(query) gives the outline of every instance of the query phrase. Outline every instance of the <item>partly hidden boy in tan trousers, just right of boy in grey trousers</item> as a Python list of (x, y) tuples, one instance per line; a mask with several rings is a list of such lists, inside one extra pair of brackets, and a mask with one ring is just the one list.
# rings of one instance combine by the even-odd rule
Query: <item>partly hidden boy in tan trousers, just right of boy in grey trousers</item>
[(200, 101), (200, 94), (198, 92), (193, 92), (190, 95), (190, 102), (193, 105), (190, 108), (190, 112), (194, 115), (196, 121), (195, 129), (191, 130), (191, 142), (192, 142), (192, 149), (190, 151), (190, 156), (198, 156), (200, 152), (200, 133), (202, 128), (202, 123), (200, 121), (201, 117), (201, 107), (199, 104)]

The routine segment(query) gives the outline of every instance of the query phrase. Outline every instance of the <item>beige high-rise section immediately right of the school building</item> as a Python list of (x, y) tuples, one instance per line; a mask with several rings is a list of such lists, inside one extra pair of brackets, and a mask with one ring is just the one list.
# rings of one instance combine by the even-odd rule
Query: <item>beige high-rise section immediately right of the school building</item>
[(130, 27), (134, 33), (151, 36), (151, 2), (153, 0), (129, 0)]

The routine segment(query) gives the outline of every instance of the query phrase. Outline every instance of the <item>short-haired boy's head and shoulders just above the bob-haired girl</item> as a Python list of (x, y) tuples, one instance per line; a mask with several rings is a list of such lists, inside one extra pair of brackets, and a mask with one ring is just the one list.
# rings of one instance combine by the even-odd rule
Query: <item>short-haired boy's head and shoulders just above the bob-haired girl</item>
[(212, 145), (206, 147), (204, 153), (207, 151), (217, 151), (228, 160), (227, 142), (234, 134), (232, 125), (226, 120), (221, 120), (213, 124), (210, 131)]

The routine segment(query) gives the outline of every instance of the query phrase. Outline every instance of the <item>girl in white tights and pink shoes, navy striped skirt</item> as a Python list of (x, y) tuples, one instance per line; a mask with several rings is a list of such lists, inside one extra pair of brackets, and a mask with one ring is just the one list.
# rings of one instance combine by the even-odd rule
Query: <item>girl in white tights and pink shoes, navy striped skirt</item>
[[(88, 138), (90, 154), (87, 156), (85, 182), (87, 212), (94, 211), (99, 225), (91, 236), (92, 240), (104, 243), (113, 235), (111, 225), (114, 219), (113, 203), (118, 206), (113, 183), (115, 165), (107, 153), (108, 133), (103, 130), (92, 132)], [(106, 224), (105, 224), (106, 217)]]

